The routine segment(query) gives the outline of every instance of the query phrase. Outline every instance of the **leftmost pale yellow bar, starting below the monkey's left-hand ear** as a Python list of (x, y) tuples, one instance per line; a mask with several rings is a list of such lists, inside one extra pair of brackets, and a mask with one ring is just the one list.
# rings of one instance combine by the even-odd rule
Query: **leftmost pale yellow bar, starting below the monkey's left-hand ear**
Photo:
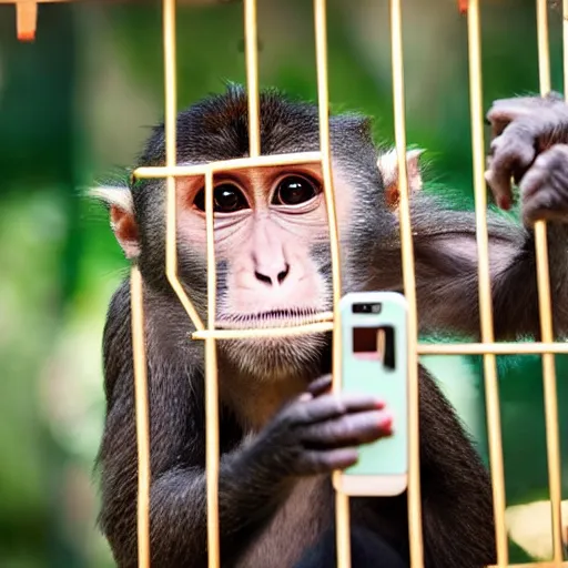
[(132, 354), (138, 444), (138, 565), (150, 568), (150, 426), (142, 276), (136, 266), (130, 273)]

